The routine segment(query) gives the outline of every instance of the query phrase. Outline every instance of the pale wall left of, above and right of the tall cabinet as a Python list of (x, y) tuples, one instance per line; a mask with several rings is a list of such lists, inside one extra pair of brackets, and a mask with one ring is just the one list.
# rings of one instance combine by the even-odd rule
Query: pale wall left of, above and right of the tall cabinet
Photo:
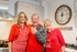
[[(14, 3), (18, 0), (9, 0), (9, 12), (14, 15)], [(43, 6), (44, 7), (44, 17), (47, 17), (47, 2), (46, 1), (33, 1), (33, 0), (19, 0), (19, 1), (23, 1), (23, 2), (28, 2), (28, 3), (32, 3), (32, 4), (36, 4), (36, 6)]]

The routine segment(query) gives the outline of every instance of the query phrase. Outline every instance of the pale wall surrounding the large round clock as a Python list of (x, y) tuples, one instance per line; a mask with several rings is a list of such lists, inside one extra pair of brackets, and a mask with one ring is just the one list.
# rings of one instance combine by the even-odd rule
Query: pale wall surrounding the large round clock
[(62, 25), (58, 25), (54, 19), (55, 10), (61, 4), (69, 6), (72, 8), (72, 11), (73, 11), (72, 20), (66, 25), (64, 25), (64, 27), (73, 27), (73, 30), (72, 31), (62, 31), (62, 33), (63, 33), (65, 41), (67, 43), (76, 43), (77, 28), (75, 28), (75, 21), (74, 21), (74, 15), (75, 15), (75, 13), (74, 13), (74, 0), (51, 0), (48, 2), (48, 19), (52, 20), (52, 24), (54, 28), (62, 27)]

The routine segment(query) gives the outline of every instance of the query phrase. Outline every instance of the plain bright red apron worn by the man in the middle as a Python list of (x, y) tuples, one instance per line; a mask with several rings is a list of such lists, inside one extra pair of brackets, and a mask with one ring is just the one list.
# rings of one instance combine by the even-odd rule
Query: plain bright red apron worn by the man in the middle
[[(31, 27), (32, 24), (30, 24), (30, 28)], [(42, 44), (37, 41), (37, 38), (31, 31), (26, 52), (42, 52)]]

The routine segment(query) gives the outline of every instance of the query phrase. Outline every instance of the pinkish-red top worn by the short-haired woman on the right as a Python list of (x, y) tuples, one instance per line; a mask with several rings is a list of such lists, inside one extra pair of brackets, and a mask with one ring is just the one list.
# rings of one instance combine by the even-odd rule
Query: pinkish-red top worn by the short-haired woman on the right
[(62, 32), (58, 29), (47, 33), (46, 52), (59, 52), (61, 48), (65, 46), (65, 41)]

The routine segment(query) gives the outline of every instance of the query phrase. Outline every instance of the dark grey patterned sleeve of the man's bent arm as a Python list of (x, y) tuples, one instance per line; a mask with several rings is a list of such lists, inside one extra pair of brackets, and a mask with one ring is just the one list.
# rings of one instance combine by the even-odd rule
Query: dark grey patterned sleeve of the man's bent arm
[(41, 43), (46, 43), (46, 29), (44, 27), (41, 27), (40, 30), (35, 33), (35, 35)]

